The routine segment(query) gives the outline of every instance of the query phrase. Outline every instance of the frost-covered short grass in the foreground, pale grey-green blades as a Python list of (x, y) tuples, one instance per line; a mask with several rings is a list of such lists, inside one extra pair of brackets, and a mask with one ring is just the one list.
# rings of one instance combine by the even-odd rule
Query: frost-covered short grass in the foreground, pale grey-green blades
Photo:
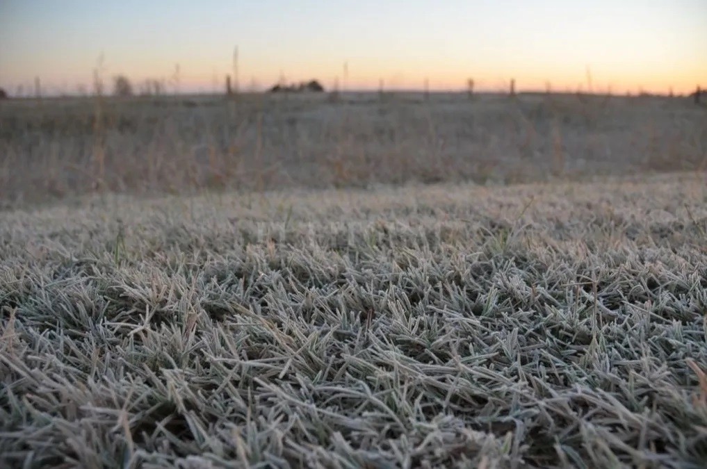
[(703, 174), (1, 214), (0, 465), (701, 467)]

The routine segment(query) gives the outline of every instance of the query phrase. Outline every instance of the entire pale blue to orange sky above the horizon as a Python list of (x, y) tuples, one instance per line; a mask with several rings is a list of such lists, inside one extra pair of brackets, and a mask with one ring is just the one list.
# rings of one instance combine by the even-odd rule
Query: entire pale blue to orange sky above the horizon
[[(344, 90), (707, 87), (707, 0), (0, 0), (0, 87), (221, 90), (316, 78)], [(178, 67), (178, 73), (177, 71)]]

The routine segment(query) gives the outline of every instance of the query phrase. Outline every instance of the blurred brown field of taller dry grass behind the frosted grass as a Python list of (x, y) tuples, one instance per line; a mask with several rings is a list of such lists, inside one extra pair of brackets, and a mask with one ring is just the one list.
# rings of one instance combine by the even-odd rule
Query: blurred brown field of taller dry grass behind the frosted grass
[(0, 102), (0, 201), (707, 169), (689, 98), (377, 93)]

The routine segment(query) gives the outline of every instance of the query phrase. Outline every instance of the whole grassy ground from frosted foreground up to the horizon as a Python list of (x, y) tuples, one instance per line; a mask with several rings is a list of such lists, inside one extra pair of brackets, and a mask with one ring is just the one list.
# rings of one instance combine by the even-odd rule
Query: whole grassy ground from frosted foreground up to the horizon
[(701, 468), (707, 112), (0, 103), (0, 467)]

